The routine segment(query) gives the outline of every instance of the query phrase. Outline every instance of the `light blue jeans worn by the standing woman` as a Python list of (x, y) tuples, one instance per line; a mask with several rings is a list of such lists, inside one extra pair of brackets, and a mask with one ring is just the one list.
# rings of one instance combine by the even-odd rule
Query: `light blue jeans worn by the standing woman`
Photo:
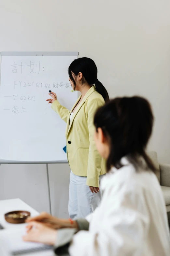
[[(105, 175), (105, 174), (104, 174)], [(104, 175), (99, 177), (99, 184)], [(87, 177), (77, 176), (71, 171), (69, 186), (68, 213), (71, 219), (85, 218), (100, 204), (102, 191), (92, 193), (86, 185)]]

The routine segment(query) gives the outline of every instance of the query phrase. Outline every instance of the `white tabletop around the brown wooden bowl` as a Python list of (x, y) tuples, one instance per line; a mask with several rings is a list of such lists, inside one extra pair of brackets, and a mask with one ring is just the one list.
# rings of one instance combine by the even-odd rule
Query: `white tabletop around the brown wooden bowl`
[[(6, 230), (16, 230), (16, 229), (21, 229), (23, 226), (26, 226), (25, 223), (23, 224), (10, 224), (6, 222), (4, 218), (4, 214), (7, 212), (12, 212), (12, 211), (19, 211), (19, 210), (24, 210), (28, 211), (31, 213), (31, 216), (36, 216), (39, 213), (35, 211), (31, 206), (23, 202), (21, 199), (16, 198), (16, 199), (8, 199), (8, 200), (0, 200), (0, 224), (6, 229)], [(0, 232), (3, 232), (3, 230), (0, 230)], [(39, 252), (32, 252), (32, 253), (24, 253), (20, 254), (18, 256), (54, 256), (53, 250), (48, 250), (48, 251), (39, 251)]]

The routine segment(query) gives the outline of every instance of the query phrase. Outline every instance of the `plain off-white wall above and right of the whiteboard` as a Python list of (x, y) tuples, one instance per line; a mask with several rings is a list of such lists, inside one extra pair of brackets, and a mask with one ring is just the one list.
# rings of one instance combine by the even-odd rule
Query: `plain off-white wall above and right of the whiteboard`
[(111, 97), (150, 100), (150, 149), (170, 163), (169, 10), (169, 0), (1, 0), (0, 51), (79, 51), (92, 58)]

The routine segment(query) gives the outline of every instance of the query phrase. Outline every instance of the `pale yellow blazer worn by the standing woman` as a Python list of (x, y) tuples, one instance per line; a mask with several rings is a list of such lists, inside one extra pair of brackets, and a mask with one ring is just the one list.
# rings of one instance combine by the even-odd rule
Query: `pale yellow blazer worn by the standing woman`
[(60, 105), (58, 100), (52, 103), (52, 109), (67, 123), (67, 159), (72, 172), (87, 177), (88, 186), (99, 187), (99, 175), (105, 174), (106, 168), (105, 161), (102, 160), (94, 143), (93, 117), (105, 101), (95, 86), (92, 86), (78, 105), (70, 122), (70, 114), (80, 98), (81, 96), (71, 111)]

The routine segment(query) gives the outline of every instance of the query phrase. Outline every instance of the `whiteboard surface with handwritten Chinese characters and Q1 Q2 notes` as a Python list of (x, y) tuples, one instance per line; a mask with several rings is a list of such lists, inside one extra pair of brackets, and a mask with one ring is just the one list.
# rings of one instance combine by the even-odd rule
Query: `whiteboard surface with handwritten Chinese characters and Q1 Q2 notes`
[(21, 56), (10, 53), (1, 57), (0, 159), (66, 160), (66, 123), (46, 99), (49, 90), (54, 91), (59, 102), (71, 110), (78, 94), (71, 92), (67, 69), (78, 54), (17, 55)]

